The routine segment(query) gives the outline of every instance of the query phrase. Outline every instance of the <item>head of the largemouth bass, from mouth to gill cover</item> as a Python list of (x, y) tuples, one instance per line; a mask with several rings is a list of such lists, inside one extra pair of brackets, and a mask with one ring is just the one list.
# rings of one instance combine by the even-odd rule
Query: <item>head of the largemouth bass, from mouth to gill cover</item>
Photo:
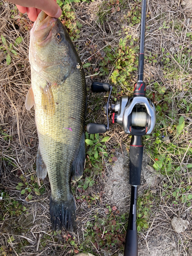
[(31, 68), (50, 83), (62, 82), (77, 66), (77, 56), (60, 20), (41, 11), (30, 32)]

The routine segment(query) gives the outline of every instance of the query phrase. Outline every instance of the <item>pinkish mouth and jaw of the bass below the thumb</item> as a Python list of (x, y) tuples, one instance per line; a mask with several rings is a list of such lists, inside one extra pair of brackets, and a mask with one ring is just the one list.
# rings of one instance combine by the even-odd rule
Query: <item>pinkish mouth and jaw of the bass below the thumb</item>
[(39, 47), (45, 47), (52, 38), (52, 28), (55, 26), (57, 18), (48, 16), (41, 11), (33, 28), (34, 42)]

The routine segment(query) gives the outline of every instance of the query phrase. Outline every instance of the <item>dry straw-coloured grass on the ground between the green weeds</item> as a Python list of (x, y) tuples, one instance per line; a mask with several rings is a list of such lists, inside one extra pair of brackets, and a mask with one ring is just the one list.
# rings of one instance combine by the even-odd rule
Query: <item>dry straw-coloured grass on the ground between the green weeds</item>
[[(192, 43), (187, 37), (187, 33), (192, 33), (191, 9), (190, 1), (185, 1), (186, 5), (182, 6), (181, 1), (175, 0), (149, 0), (147, 2), (147, 13), (149, 14), (146, 23), (146, 56), (155, 56), (157, 62), (150, 63), (150, 58), (146, 59), (144, 78), (147, 88), (154, 93), (157, 93), (154, 82), (162, 82), (163, 86), (170, 93), (172, 104), (169, 108), (177, 110), (176, 116), (168, 116), (169, 122), (162, 128), (162, 123), (158, 122), (156, 131), (168, 134), (170, 140), (177, 146), (178, 152), (173, 153), (174, 164), (181, 166), (179, 178), (173, 178), (168, 175), (158, 174), (158, 182), (151, 187), (145, 184), (145, 179), (142, 178), (142, 186), (140, 188), (140, 196), (145, 190), (153, 194), (153, 207), (148, 219), (149, 228), (141, 230), (139, 233), (139, 255), (191, 255), (191, 224), (183, 233), (176, 233), (170, 224), (173, 217), (181, 217), (191, 223), (191, 206), (186, 203), (179, 203), (173, 206), (172, 200), (168, 200), (162, 195), (163, 191), (172, 194), (175, 188), (180, 187), (181, 181), (190, 184), (188, 178), (191, 177), (191, 168), (186, 170), (186, 165), (192, 162), (191, 155), (188, 154), (191, 148), (192, 130), (191, 130), (191, 113), (184, 112), (181, 108), (184, 103), (180, 100), (184, 98), (187, 104), (192, 104), (191, 98), (191, 59), (187, 60), (187, 56), (191, 57), (191, 52), (183, 54), (183, 49), (192, 50)], [(4, 246), (5, 253), (2, 255), (71, 255), (74, 254), (72, 249), (75, 248), (73, 243), (69, 242), (69, 237), (65, 232), (54, 234), (51, 232), (49, 220), (49, 195), (50, 186), (49, 180), (46, 178), (41, 182), (35, 178), (36, 183), (40, 188), (44, 188), (44, 193), (39, 197), (33, 194), (33, 199), (28, 202), (26, 197), (20, 195), (15, 189), (20, 176), (24, 175), (28, 182), (30, 177), (35, 177), (35, 158), (37, 153), (38, 138), (34, 121), (34, 110), (30, 112), (25, 109), (25, 97), (30, 87), (30, 66), (28, 59), (29, 48), (29, 30), (32, 26), (26, 16), (19, 16), (12, 4), (2, 2), (0, 5), (1, 17), (0, 27), (1, 35), (6, 38), (8, 46), (13, 44), (13, 49), (16, 50), (17, 56), (11, 54), (11, 63), (7, 65), (6, 54), (4, 50), (0, 50), (0, 90), (1, 90), (1, 124), (0, 124), (0, 154), (1, 154), (1, 185), (2, 191), (6, 191), (9, 195), (9, 201), (5, 202), (7, 211), (1, 211), (4, 214), (3, 221), (0, 222), (0, 247)], [(96, 69), (99, 68), (98, 63), (101, 57), (105, 56), (103, 48), (106, 45), (111, 45), (112, 49), (119, 44), (119, 39), (125, 37), (125, 29), (128, 28), (129, 34), (139, 39), (139, 25), (130, 27), (125, 18), (128, 11), (132, 9), (134, 1), (120, 1), (120, 11), (112, 12), (103, 1), (95, 1), (92, 3), (78, 3), (74, 5), (76, 18), (83, 25), (80, 32), (80, 38), (75, 42), (78, 46), (78, 53), (82, 62), (90, 62), (91, 68), (86, 70), (87, 86), (90, 88), (93, 79), (99, 81), (110, 81), (110, 75), (105, 77), (94, 76)], [(11, 12), (13, 10), (13, 12)], [(100, 16), (97, 14), (100, 13)], [(14, 14), (14, 17), (11, 15)], [(163, 23), (165, 24), (163, 25)], [(168, 28), (164, 28), (166, 26)], [(159, 29), (162, 28), (162, 29)], [(121, 34), (119, 34), (121, 31)], [(14, 46), (17, 37), (23, 37), (23, 41), (19, 46)], [(135, 44), (139, 44), (136, 40)], [(2, 44), (1, 44), (2, 45)], [(166, 65), (162, 63), (163, 57), (162, 48), (165, 52), (169, 52), (170, 63)], [(94, 49), (94, 50), (93, 50)], [(99, 53), (99, 54), (98, 54)], [(177, 54), (177, 61), (173, 57)], [(91, 58), (90, 58), (91, 57)], [(165, 67), (166, 66), (166, 67)], [(165, 69), (166, 68), (166, 69)], [(113, 72), (113, 66), (109, 65), (110, 74)], [(99, 70), (98, 70), (99, 71)], [(136, 81), (137, 73), (133, 72), (130, 82)], [(151, 82), (154, 80), (154, 82)], [(118, 91), (124, 90), (118, 85)], [(131, 93), (128, 91), (127, 93)], [(98, 104), (98, 99), (101, 101), (103, 95), (95, 95), (88, 93), (88, 113), (87, 122), (97, 121), (105, 122), (105, 116), (102, 111), (102, 104)], [(161, 105), (162, 99), (154, 99), (156, 105)], [(178, 104), (179, 103), (179, 104)], [(160, 112), (160, 111), (159, 111)], [(159, 112), (157, 114), (159, 114)], [(168, 114), (167, 114), (168, 115)], [(174, 127), (178, 125), (180, 116), (185, 118), (184, 132), (177, 136)], [(164, 130), (163, 130), (164, 129)], [(5, 135), (6, 134), (6, 135)], [(119, 125), (115, 124), (111, 127), (108, 133), (111, 140), (106, 144), (106, 149), (111, 152), (112, 148), (119, 145), (119, 154), (122, 153), (122, 145), (129, 146), (130, 137), (122, 132)], [(152, 144), (155, 138), (152, 138)], [(119, 143), (121, 142), (121, 143)], [(188, 150), (182, 153), (181, 148), (186, 147)], [(160, 153), (166, 152), (167, 146), (160, 148)], [(150, 152), (146, 152), (149, 156), (146, 163), (153, 165), (152, 157), (153, 148)], [(88, 230), (87, 223), (95, 220), (95, 216), (100, 218), (106, 216), (106, 204), (110, 202), (104, 197), (104, 184), (107, 175), (110, 173), (109, 159), (103, 159), (104, 169), (101, 175), (93, 175), (95, 185), (84, 191), (83, 195), (93, 197), (99, 195), (100, 200), (96, 204), (90, 205), (86, 200), (77, 201), (77, 233), (74, 235), (74, 242), (87, 248), (87, 251), (98, 255), (108, 255), (106, 250), (96, 248), (94, 243), (89, 243), (84, 234)], [(144, 163), (144, 164), (146, 164)], [(157, 175), (157, 174), (156, 174)], [(174, 174), (178, 176), (178, 173)], [(174, 176), (173, 175), (173, 176)], [(180, 181), (180, 182), (178, 182)], [(172, 190), (167, 192), (164, 184), (173, 185)], [(73, 184), (73, 189), (76, 197), (82, 195), (82, 190), (78, 189), (77, 184)], [(190, 189), (191, 190), (191, 189)], [(190, 193), (190, 190), (187, 193)], [(1, 195), (0, 195), (1, 196)], [(10, 215), (9, 208), (13, 203), (12, 200), (17, 200), (25, 206), (27, 211), (22, 214)], [(190, 200), (191, 201), (191, 200)], [(0, 201), (1, 202), (1, 201)], [(3, 204), (0, 204), (3, 208)], [(113, 206), (113, 205), (111, 205)], [(124, 223), (122, 225), (124, 227)], [(122, 228), (123, 229), (123, 228)], [(123, 231), (122, 231), (123, 232)], [(11, 236), (14, 240), (11, 242)], [(72, 242), (73, 242), (72, 241)], [(84, 249), (83, 249), (84, 250)], [(79, 249), (80, 251), (80, 249)], [(118, 254), (122, 252), (119, 247), (115, 250), (110, 249), (110, 254)], [(0, 251), (1, 253), (1, 251)], [(3, 252), (2, 252), (3, 253)]]

